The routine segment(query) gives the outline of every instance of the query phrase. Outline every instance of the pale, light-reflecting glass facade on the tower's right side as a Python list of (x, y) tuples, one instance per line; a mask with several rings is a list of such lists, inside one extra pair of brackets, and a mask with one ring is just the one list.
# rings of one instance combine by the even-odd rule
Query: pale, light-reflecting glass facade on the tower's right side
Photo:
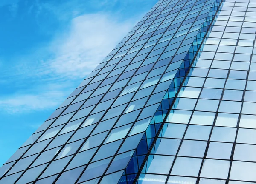
[(138, 184), (256, 183), (255, 12), (225, 0)]

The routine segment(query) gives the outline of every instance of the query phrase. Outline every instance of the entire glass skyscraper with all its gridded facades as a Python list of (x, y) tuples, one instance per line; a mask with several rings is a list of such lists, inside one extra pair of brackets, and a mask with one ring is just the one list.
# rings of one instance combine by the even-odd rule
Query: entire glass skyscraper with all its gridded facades
[(159, 0), (0, 184), (256, 183), (256, 0)]

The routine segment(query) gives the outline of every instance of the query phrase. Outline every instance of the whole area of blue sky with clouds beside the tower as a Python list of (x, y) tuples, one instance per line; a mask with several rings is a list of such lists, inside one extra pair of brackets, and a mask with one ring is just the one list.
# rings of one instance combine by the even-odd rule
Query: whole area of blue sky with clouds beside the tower
[(0, 166), (156, 2), (0, 1)]

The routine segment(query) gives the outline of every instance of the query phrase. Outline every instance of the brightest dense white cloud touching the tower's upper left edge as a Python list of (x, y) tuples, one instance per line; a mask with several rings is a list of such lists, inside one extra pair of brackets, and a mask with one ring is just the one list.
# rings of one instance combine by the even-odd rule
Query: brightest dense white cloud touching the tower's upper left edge
[(86, 14), (72, 20), (71, 29), (52, 43), (56, 58), (49, 69), (67, 77), (90, 73), (131, 29), (134, 21), (120, 22), (107, 14)]

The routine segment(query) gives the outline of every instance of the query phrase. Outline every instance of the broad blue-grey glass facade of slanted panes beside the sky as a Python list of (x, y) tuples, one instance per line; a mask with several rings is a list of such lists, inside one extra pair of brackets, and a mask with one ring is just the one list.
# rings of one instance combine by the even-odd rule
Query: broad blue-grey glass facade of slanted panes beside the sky
[[(158, 1), (0, 168), (0, 184), (81, 183), (115, 171), (119, 156), (131, 158), (142, 138), (134, 121), (154, 115), (163, 96), (150, 95), (169, 88), (164, 82), (175, 76), (213, 2)], [(119, 173), (109, 176), (114, 181)]]

